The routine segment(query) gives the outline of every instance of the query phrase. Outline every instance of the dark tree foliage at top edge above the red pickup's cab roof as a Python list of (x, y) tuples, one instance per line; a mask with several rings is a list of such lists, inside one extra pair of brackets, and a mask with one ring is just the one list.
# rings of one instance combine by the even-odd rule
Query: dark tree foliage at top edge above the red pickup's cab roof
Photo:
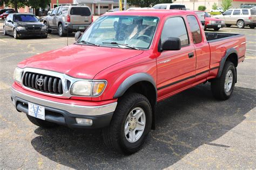
[(160, 3), (172, 3), (172, 0), (127, 0), (129, 5), (136, 5), (139, 7), (149, 7)]

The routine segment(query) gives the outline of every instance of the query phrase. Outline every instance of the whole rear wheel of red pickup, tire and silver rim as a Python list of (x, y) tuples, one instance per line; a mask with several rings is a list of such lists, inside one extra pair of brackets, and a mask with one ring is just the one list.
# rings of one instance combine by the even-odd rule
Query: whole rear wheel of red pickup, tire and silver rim
[(213, 96), (219, 100), (230, 98), (236, 79), (235, 67), (232, 62), (227, 61), (219, 78), (212, 80), (211, 91)]

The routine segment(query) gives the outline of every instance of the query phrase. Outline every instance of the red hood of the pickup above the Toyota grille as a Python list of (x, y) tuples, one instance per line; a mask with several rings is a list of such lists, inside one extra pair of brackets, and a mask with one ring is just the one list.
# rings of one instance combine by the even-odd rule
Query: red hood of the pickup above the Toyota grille
[(93, 79), (107, 67), (141, 53), (142, 50), (73, 44), (28, 58), (19, 63), (18, 67), (32, 67), (64, 73), (75, 78)]

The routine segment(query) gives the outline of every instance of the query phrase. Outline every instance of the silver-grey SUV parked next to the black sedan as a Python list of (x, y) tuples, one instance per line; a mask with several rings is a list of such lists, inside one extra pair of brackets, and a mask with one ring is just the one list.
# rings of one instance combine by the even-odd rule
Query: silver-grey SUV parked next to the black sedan
[(44, 18), (48, 33), (58, 30), (59, 36), (68, 32), (84, 31), (93, 22), (91, 9), (85, 5), (58, 6)]

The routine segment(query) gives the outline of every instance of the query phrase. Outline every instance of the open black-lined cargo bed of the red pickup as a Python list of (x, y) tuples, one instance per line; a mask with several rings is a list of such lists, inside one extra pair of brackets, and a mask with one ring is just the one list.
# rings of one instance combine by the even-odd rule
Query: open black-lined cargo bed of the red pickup
[(217, 33), (217, 32), (205, 32), (205, 36), (207, 39), (207, 42), (215, 42), (219, 40), (223, 40), (224, 38), (234, 38), (234, 37), (240, 37), (243, 36), (242, 34), (235, 34), (235, 33)]

